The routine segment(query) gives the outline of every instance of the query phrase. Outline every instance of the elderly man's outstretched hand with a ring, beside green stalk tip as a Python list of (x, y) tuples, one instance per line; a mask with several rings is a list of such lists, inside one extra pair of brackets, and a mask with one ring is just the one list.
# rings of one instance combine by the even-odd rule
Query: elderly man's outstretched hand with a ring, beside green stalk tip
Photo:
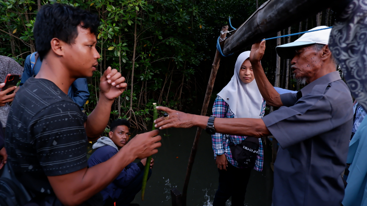
[(181, 111), (171, 110), (168, 107), (157, 106), (157, 110), (165, 111), (169, 114), (168, 119), (160, 117), (154, 121), (155, 127), (159, 129), (190, 128), (193, 126), (193, 114), (186, 114)]

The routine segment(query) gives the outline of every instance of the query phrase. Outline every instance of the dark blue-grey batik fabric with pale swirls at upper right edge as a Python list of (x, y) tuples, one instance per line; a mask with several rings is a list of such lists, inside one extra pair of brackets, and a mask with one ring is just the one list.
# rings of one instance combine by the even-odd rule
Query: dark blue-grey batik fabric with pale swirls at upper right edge
[(331, 30), (329, 47), (352, 95), (367, 109), (367, 1), (353, 0)]

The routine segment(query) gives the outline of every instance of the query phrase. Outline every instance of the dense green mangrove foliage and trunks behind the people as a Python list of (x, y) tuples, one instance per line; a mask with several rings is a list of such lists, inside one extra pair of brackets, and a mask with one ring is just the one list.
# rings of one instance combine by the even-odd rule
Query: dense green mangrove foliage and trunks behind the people
[[(101, 59), (88, 80), (90, 97), (85, 112), (89, 114), (95, 107), (100, 74), (111, 66), (121, 71), (129, 85), (113, 104), (111, 119), (131, 117), (140, 129), (150, 123), (153, 102), (199, 113), (221, 27), (228, 25), (229, 16), (238, 27), (257, 7), (256, 0), (0, 0), (0, 55), (10, 56), (23, 66), (26, 56), (37, 51), (32, 32), (37, 10), (55, 2), (90, 10), (101, 19), (96, 34)], [(259, 0), (260, 5), (263, 2)], [(302, 31), (315, 27), (315, 21), (315, 17), (310, 18)], [(328, 21), (324, 17), (323, 22)], [(295, 25), (292, 33), (298, 29)], [(275, 45), (276, 40), (267, 42), (262, 61), (272, 82)], [(238, 54), (222, 58), (212, 100), (232, 77)], [(282, 61), (283, 71), (285, 64)], [(289, 84), (290, 89), (296, 89), (294, 80)]]

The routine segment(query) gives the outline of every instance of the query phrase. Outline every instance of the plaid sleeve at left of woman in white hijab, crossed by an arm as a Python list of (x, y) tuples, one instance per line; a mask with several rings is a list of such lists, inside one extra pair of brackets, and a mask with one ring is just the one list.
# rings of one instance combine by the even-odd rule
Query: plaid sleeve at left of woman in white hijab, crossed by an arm
[[(228, 111), (228, 107), (229, 105), (220, 96), (217, 96), (212, 108), (213, 115), (218, 118), (225, 118), (225, 115)], [(222, 136), (223, 135), (221, 133), (215, 133), (214, 135), (211, 136), (214, 156), (216, 156), (217, 154), (218, 155), (224, 154)]]

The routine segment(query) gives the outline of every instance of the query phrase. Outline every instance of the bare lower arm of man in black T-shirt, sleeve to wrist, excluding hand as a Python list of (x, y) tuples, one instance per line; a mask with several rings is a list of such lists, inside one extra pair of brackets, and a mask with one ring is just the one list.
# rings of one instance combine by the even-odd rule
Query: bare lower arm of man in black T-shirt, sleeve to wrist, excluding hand
[(106, 188), (135, 157), (129, 148), (123, 147), (109, 160), (91, 168), (48, 176), (58, 199), (66, 206), (76, 206)]

